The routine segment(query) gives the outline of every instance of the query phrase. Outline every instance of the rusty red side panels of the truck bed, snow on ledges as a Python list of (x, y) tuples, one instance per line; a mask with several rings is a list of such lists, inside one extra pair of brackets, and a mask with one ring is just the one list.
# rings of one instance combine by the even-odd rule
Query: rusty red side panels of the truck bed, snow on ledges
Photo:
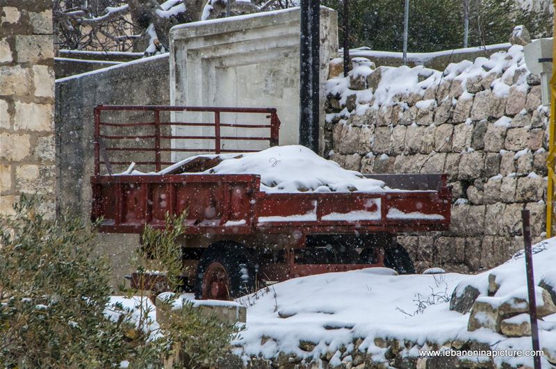
[[(380, 178), (384, 176), (374, 176)], [(187, 233), (352, 233), (445, 230), (450, 191), (267, 193), (252, 174), (92, 177), (92, 219), (101, 231), (163, 227), (165, 213), (187, 211)]]

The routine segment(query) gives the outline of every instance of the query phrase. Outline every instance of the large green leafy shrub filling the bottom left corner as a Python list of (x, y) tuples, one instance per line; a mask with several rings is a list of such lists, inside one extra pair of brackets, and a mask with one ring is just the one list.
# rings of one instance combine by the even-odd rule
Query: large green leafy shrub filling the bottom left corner
[(136, 349), (125, 320), (104, 316), (111, 295), (94, 234), (77, 218), (46, 220), (22, 197), (0, 218), (0, 366), (106, 368)]

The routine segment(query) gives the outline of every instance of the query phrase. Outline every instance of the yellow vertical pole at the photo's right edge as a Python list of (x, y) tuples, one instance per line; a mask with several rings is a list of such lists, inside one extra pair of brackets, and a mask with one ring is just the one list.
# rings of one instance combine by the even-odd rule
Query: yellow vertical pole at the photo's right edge
[[(553, 0), (554, 6), (556, 8), (556, 0)], [(556, 12), (554, 14), (554, 24), (553, 24), (553, 36), (556, 35)], [(553, 236), (553, 222), (554, 222), (554, 183), (556, 180), (555, 174), (555, 124), (556, 124), (556, 37), (553, 38), (553, 49), (552, 49), (552, 78), (550, 79), (550, 126), (549, 126), (549, 141), (548, 141), (548, 158), (546, 159), (546, 165), (548, 166), (548, 186), (546, 188), (546, 238)]]

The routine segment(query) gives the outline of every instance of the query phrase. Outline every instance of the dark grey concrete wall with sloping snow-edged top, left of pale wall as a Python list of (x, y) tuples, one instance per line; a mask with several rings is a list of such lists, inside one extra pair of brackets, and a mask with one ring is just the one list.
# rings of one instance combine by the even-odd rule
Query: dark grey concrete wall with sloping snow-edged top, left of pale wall
[[(85, 221), (90, 217), (92, 109), (97, 104), (167, 105), (168, 83), (167, 54), (56, 81), (58, 208), (69, 208)], [(141, 119), (140, 115), (133, 116), (133, 120)], [(138, 236), (101, 235), (99, 242), (101, 252), (110, 256), (116, 286), (132, 269), (129, 258), (139, 244)]]

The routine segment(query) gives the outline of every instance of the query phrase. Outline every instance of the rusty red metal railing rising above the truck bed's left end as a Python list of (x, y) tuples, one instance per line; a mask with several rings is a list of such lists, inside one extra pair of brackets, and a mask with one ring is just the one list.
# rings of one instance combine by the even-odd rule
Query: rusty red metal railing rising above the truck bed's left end
[[(128, 111), (128, 112), (152, 112), (152, 121), (147, 122), (105, 122), (102, 120), (102, 113), (105, 111)], [(197, 113), (213, 113), (213, 122), (165, 122), (161, 120), (161, 113), (163, 112), (197, 112)], [(248, 123), (227, 123), (221, 121), (222, 113), (247, 113), (247, 114), (264, 114), (265, 119), (270, 122), (264, 124), (248, 124)], [(121, 118), (120, 118), (121, 120)], [(137, 128), (140, 126), (152, 126), (154, 132), (151, 134), (138, 135), (134, 132), (129, 134), (109, 134), (102, 131), (102, 127), (112, 126), (121, 129)], [(197, 127), (212, 127), (214, 134), (211, 136), (179, 136), (173, 135), (172, 129), (170, 132), (162, 132), (162, 127), (165, 126), (197, 126)], [(169, 152), (199, 152), (199, 153), (234, 153), (234, 152), (252, 152), (257, 151), (253, 149), (226, 149), (222, 147), (223, 140), (255, 140), (255, 141), (268, 141), (270, 146), (278, 145), (280, 120), (278, 118), (275, 108), (224, 108), (224, 107), (208, 107), (208, 106), (154, 106), (154, 105), (98, 105), (95, 107), (95, 131), (93, 145), (95, 147), (95, 176), (100, 174), (100, 165), (106, 165), (108, 173), (111, 174), (112, 165), (129, 165), (125, 161), (111, 161), (108, 158), (110, 151), (127, 151), (129, 153), (152, 152), (154, 153), (154, 160), (135, 161), (139, 165), (153, 165), (158, 172), (161, 170), (162, 165), (174, 164), (172, 161), (162, 161), (161, 153)], [(269, 136), (222, 136), (222, 128), (240, 128), (240, 129), (269, 129)], [(150, 140), (152, 146), (144, 147), (128, 147), (128, 146), (112, 146), (108, 147), (106, 142), (110, 140)], [(172, 147), (172, 140), (214, 140), (213, 147), (205, 148), (177, 148)], [(125, 141), (124, 141), (125, 142)], [(167, 142), (167, 145), (163, 145)]]

